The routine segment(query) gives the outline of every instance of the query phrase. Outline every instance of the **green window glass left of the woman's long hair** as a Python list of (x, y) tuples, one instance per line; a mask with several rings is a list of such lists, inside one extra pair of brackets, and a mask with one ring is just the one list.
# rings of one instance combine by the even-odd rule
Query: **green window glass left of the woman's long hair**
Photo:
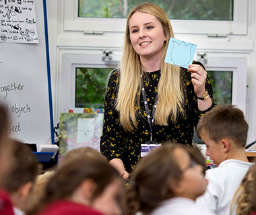
[(75, 107), (104, 107), (108, 74), (113, 69), (75, 69)]

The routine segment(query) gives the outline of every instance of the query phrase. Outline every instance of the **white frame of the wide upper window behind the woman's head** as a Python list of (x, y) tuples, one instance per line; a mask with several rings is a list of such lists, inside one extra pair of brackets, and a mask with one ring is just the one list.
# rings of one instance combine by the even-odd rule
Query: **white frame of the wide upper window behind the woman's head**
[[(77, 17), (78, 1), (62, 1), (64, 31), (125, 32), (126, 19)], [(233, 21), (171, 19), (170, 22), (175, 34), (246, 35), (247, 7), (248, 0), (234, 0)]]

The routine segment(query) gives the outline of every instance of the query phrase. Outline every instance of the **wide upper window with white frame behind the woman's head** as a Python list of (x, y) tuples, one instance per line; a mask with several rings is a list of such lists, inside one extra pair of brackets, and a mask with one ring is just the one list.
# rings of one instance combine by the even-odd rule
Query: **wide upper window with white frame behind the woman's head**
[[(188, 5), (191, 4), (191, 1), (186, 1), (186, 3), (181, 3), (181, 1), (185, 0), (179, 0), (176, 1), (179, 4), (176, 7), (172, 7), (170, 10), (170, 13), (174, 11), (174, 8), (181, 8), (179, 9), (179, 12), (175, 13), (173, 17), (171, 18), (172, 28), (174, 29), (175, 34), (239, 34), (239, 35), (245, 35), (247, 34), (247, 5), (248, 0), (240, 1), (240, 0), (233, 0), (233, 1), (227, 1), (227, 0), (211, 0), (211, 1), (205, 1), (208, 5), (211, 4), (218, 4), (220, 3), (226, 3), (226, 6), (223, 8), (224, 10), (228, 11), (227, 13), (224, 13), (222, 10), (222, 7), (217, 7), (217, 9), (214, 10), (207, 10), (207, 9), (200, 9), (200, 7), (203, 6), (202, 3), (197, 4), (194, 3), (193, 7), (189, 7)], [(86, 1), (87, 2), (87, 1)], [(91, 7), (97, 7), (94, 5), (93, 0), (90, 0), (88, 2), (91, 2)], [(103, 3), (106, 1), (102, 1)], [(120, 9), (118, 12), (114, 12), (113, 4), (115, 2), (119, 1), (108, 1), (108, 4), (105, 6), (105, 11), (103, 9), (102, 14), (97, 14), (96, 9), (92, 9), (92, 11), (83, 11), (82, 1), (80, 2), (80, 10), (79, 10), (79, 0), (63, 0), (61, 1), (61, 4), (64, 8), (63, 13), (63, 22), (64, 22), (64, 31), (81, 31), (81, 32), (125, 32), (125, 24), (126, 20), (124, 18), (104, 18), (106, 16), (113, 16), (113, 17), (120, 17), (125, 16), (124, 11), (128, 11), (129, 5), (127, 4), (127, 9)], [(124, 1), (126, 2), (126, 1)], [(130, 1), (129, 1), (130, 2)], [(135, 1), (137, 3), (137, 1)], [(156, 3), (159, 3), (160, 6), (163, 6), (164, 2), (168, 5), (170, 1), (154, 1)], [(174, 2), (174, 1), (173, 1)], [(201, 1), (204, 2), (204, 1)], [(109, 5), (109, 6), (108, 6)], [(188, 9), (184, 6), (186, 5)], [(229, 6), (228, 6), (229, 5)], [(230, 7), (232, 5), (232, 7)], [(103, 7), (103, 6), (102, 6)], [(125, 5), (122, 5), (120, 7), (125, 8)], [(111, 8), (111, 9), (110, 9)], [(115, 6), (115, 10), (116, 7)], [(191, 11), (187, 11), (189, 9), (195, 9), (195, 11), (203, 11), (204, 13), (197, 14), (192, 13)], [(102, 12), (102, 9), (100, 10)], [(112, 15), (113, 14), (119, 14), (119, 15)], [(165, 11), (168, 13), (168, 9), (165, 9)], [(184, 13), (181, 13), (183, 11)], [(220, 12), (221, 11), (221, 12)], [(87, 14), (87, 16), (91, 17), (79, 17), (78, 15)], [(93, 14), (94, 13), (94, 14)], [(179, 15), (179, 13), (181, 15)], [(216, 14), (218, 19), (221, 21), (215, 20)], [(176, 14), (176, 15), (175, 15)], [(194, 16), (193, 16), (193, 15)], [(222, 15), (221, 15), (222, 14)], [(92, 17), (94, 16), (94, 17)], [(96, 17), (95, 17), (96, 16)], [(104, 17), (102, 17), (104, 16)], [(185, 18), (181, 19), (181, 17)], [(196, 20), (192, 20), (196, 19)], [(205, 20), (207, 19), (207, 20)], [(195, 28), (196, 27), (196, 28)]]

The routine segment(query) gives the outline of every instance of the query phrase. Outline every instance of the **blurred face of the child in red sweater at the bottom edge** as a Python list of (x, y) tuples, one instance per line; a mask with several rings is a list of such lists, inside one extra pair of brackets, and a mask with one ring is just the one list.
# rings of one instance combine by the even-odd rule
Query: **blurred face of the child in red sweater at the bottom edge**
[(104, 189), (100, 196), (93, 200), (92, 208), (106, 215), (122, 214), (120, 204), (122, 188), (121, 179), (115, 179)]

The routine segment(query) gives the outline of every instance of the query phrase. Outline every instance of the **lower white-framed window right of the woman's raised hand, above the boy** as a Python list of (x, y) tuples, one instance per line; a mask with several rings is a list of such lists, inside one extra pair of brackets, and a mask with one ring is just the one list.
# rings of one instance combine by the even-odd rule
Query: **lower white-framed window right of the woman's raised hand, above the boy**
[(207, 58), (204, 64), (217, 104), (232, 104), (246, 114), (247, 59)]

